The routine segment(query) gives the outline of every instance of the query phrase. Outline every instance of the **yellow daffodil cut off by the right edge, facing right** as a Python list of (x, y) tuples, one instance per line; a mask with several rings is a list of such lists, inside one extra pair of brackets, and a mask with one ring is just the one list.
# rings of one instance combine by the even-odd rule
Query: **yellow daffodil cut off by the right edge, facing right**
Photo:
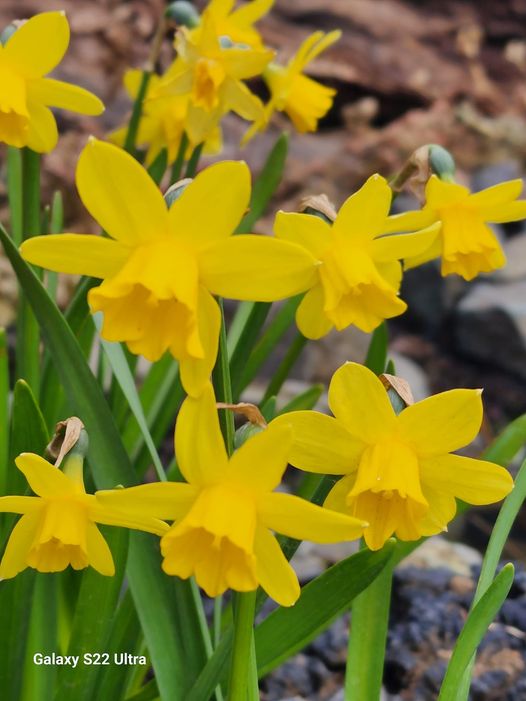
[(405, 267), (441, 257), (442, 275), (457, 273), (465, 280), (502, 268), (506, 257), (488, 223), (526, 218), (526, 201), (517, 201), (522, 187), (522, 180), (509, 180), (472, 194), (463, 185), (432, 175), (426, 185), (424, 208), (390, 217), (390, 231), (410, 231), (442, 222), (442, 233), (429, 250), (407, 258)]

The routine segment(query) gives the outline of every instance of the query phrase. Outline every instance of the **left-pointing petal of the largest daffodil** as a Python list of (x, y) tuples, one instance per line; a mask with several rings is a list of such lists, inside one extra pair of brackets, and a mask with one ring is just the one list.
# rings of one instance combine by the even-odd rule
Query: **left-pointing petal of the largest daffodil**
[(130, 248), (102, 236), (49, 234), (27, 239), (20, 253), (29, 263), (71, 275), (106, 278), (124, 265)]

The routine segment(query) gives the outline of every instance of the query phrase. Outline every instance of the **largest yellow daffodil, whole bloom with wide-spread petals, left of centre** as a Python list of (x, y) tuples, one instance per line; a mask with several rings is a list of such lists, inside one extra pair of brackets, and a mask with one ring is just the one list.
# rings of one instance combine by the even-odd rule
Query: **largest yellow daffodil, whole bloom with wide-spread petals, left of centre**
[(77, 188), (112, 238), (57, 234), (28, 239), (24, 258), (42, 267), (102, 278), (89, 292), (104, 313), (102, 335), (150, 361), (170, 351), (189, 394), (214, 366), (220, 310), (212, 295), (271, 301), (308, 288), (312, 256), (267, 236), (231, 236), (250, 199), (245, 163), (206, 168), (168, 210), (146, 170), (95, 139), (82, 152)]

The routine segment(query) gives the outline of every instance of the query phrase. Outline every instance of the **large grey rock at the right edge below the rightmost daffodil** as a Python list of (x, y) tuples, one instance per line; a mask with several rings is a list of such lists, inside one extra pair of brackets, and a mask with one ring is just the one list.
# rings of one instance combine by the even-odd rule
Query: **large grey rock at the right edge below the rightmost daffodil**
[(476, 284), (453, 320), (457, 350), (526, 379), (526, 281)]

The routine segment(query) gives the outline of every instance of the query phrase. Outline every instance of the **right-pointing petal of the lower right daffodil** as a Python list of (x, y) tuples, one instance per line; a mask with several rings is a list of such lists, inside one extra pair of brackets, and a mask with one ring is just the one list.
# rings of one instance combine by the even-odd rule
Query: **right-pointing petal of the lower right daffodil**
[(513, 480), (505, 468), (461, 455), (424, 460), (420, 470), (422, 481), (430, 487), (468, 504), (493, 504), (513, 489)]

